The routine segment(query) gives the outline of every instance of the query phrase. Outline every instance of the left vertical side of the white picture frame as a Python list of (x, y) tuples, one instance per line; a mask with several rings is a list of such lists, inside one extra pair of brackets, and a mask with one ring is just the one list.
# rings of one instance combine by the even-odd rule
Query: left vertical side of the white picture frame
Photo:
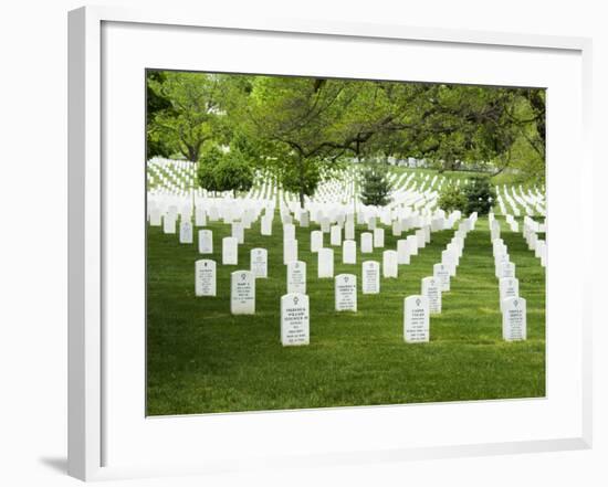
[(67, 15), (67, 474), (101, 466), (99, 19)]

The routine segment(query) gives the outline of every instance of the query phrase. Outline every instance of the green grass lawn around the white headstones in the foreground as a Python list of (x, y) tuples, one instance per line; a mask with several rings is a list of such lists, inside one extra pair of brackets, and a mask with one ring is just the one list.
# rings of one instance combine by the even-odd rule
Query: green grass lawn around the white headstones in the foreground
[[(469, 233), (443, 311), (431, 316), (429, 343), (403, 342), (403, 298), (420, 294), (420, 280), (453, 231), (432, 234), (432, 242), (399, 266), (399, 278), (380, 278), (379, 295), (360, 292), (361, 254), (356, 265), (342, 264), (335, 275), (358, 279), (358, 311), (334, 311), (334, 279), (317, 279), (310, 232), (296, 227), (300, 260), (307, 263), (311, 345), (282, 347), (280, 297), (286, 293), (282, 227), (261, 236), (260, 223), (245, 231), (239, 265), (221, 265), (221, 239), (230, 226), (212, 223), (214, 254), (198, 254), (195, 244), (160, 227), (147, 234), (147, 414), (401, 404), (440, 401), (538, 398), (545, 395), (545, 272), (521, 234), (505, 232), (516, 265), (520, 295), (527, 299), (526, 341), (502, 340), (499, 283), (488, 221)], [(357, 227), (359, 233), (365, 231)], [(387, 248), (396, 248), (386, 229)], [(405, 235), (405, 234), (403, 234)], [(198, 236), (198, 235), (196, 235)], [(401, 236), (405, 237), (405, 236)], [(329, 236), (325, 235), (325, 245)], [(269, 278), (256, 280), (255, 316), (230, 314), (230, 273), (249, 268), (249, 251), (269, 250)], [(357, 247), (358, 247), (357, 243)], [(195, 296), (195, 261), (218, 263), (218, 297)], [(381, 250), (365, 260), (381, 263)]]

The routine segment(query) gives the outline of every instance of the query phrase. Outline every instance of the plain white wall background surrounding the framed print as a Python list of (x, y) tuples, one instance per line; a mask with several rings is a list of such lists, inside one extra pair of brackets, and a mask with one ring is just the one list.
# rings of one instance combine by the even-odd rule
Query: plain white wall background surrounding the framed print
[[(184, 7), (180, 0), (98, 4)], [(201, 4), (201, 0), (192, 2)], [(594, 38), (596, 255), (604, 241), (608, 15), (594, 0), (222, 0), (211, 17), (305, 18)], [(66, 486), (66, 12), (71, 0), (0, 8), (0, 485)], [(606, 166), (606, 163), (604, 163)], [(576, 258), (576, 254), (573, 255)], [(598, 272), (608, 272), (598, 260)], [(604, 274), (605, 275), (605, 274)], [(604, 284), (606, 279), (598, 279)], [(410, 462), (129, 486), (608, 485), (608, 353), (604, 288), (595, 299), (595, 447), (587, 452)], [(497, 420), (499, 421), (499, 420)], [(432, 425), (429, 425), (432, 427)], [(112, 485), (123, 485), (113, 483)], [(126, 483), (125, 483), (126, 485)]]

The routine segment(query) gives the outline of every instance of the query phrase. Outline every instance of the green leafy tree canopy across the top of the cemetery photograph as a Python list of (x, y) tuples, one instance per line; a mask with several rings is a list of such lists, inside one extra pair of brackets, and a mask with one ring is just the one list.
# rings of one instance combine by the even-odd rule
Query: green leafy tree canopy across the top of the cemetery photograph
[(207, 145), (230, 148), (302, 204), (344, 159), (545, 176), (539, 88), (149, 71), (147, 115), (148, 156), (211, 165)]

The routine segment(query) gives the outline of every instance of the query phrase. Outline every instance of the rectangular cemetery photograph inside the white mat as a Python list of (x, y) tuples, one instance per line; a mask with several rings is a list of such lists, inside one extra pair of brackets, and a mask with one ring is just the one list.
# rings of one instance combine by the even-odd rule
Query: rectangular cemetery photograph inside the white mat
[(147, 68), (146, 415), (546, 396), (546, 89)]

